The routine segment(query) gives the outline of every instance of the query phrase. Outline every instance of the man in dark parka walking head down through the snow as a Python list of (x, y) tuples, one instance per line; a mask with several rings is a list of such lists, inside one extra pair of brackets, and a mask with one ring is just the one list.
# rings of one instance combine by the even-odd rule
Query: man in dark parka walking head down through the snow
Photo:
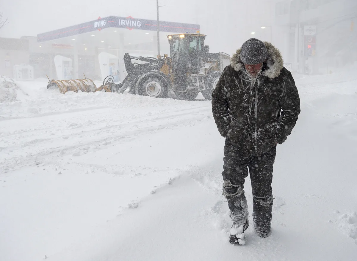
[(253, 192), (253, 221), (258, 236), (270, 232), (272, 174), (277, 143), (291, 134), (300, 98), (291, 73), (271, 43), (251, 38), (231, 59), (212, 93), (218, 131), (226, 137), (223, 195), (233, 225), (230, 242), (244, 245), (249, 226), (244, 181), (248, 169)]

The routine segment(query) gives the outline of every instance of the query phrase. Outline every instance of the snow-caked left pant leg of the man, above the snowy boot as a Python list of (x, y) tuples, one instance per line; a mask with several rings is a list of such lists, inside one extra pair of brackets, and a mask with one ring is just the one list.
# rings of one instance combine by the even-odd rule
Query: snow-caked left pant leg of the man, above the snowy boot
[(226, 142), (224, 153), (223, 195), (228, 201), (233, 222), (243, 225), (248, 219), (247, 199), (244, 194), (244, 180), (248, 176), (248, 165), (230, 142)]

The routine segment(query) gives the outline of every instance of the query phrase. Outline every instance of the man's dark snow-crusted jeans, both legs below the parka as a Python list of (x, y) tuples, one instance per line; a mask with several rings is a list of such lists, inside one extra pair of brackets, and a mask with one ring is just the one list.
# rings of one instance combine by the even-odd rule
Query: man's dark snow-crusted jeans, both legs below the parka
[(233, 222), (245, 224), (248, 219), (244, 181), (248, 169), (253, 193), (253, 221), (257, 232), (268, 233), (271, 225), (273, 196), (271, 183), (276, 146), (262, 155), (243, 158), (237, 147), (226, 141), (224, 147), (223, 195), (228, 200)]

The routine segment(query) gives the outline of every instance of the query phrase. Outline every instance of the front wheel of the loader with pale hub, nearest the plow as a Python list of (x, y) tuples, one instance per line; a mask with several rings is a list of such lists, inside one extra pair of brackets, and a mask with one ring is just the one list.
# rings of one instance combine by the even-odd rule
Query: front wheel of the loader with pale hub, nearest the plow
[(154, 98), (167, 98), (169, 87), (160, 75), (149, 74), (136, 83), (136, 94)]

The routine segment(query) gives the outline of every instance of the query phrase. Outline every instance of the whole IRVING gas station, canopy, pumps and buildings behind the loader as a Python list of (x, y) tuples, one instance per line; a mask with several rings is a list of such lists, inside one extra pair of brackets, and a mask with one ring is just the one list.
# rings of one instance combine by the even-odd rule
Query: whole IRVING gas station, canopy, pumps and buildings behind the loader
[[(200, 33), (200, 25), (160, 21), (160, 54), (170, 52), (166, 35)], [(126, 76), (124, 53), (131, 56), (157, 56), (157, 21), (129, 17), (98, 17), (37, 37), (0, 38), (0, 74), (19, 79), (13, 67), (33, 67), (32, 79), (102, 80), (113, 75), (120, 82)], [(4, 72), (3, 72), (4, 71)], [(19, 80), (25, 79), (22, 75)]]

